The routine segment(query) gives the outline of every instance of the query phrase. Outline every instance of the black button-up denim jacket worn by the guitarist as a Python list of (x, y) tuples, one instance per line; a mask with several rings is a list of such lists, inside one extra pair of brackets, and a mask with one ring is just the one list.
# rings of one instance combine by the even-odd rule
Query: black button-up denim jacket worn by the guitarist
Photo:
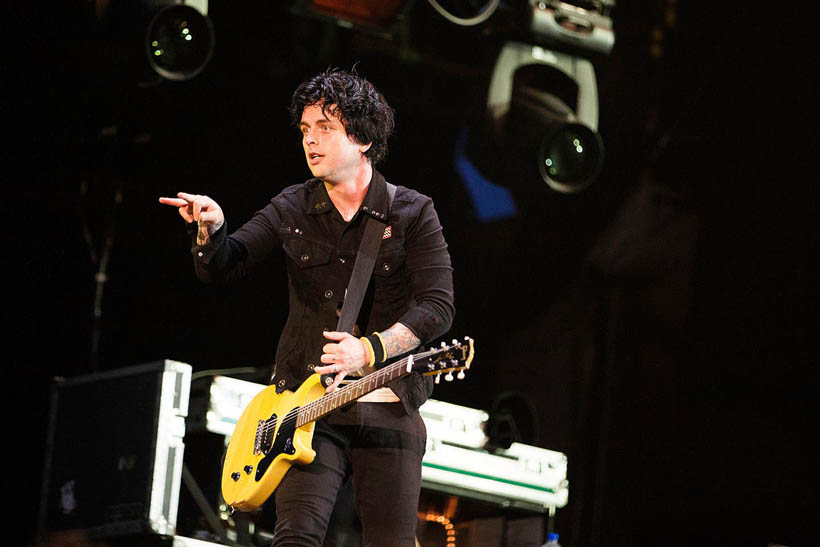
[[(205, 282), (230, 281), (272, 254), (284, 257), (289, 314), (271, 380), (277, 391), (295, 389), (321, 364), (327, 343), (322, 332), (336, 329), (368, 215), (384, 222), (385, 232), (358, 317), (361, 334), (400, 322), (422, 344), (443, 335), (455, 314), (453, 278), (433, 202), (399, 186), (388, 211), (386, 183), (375, 170), (350, 222), (334, 207), (325, 185), (310, 179), (283, 190), (231, 235), (223, 225), (208, 243), (194, 245), (197, 276)], [(411, 374), (390, 388), (406, 408), (415, 409), (432, 392), (432, 380), (426, 380)]]

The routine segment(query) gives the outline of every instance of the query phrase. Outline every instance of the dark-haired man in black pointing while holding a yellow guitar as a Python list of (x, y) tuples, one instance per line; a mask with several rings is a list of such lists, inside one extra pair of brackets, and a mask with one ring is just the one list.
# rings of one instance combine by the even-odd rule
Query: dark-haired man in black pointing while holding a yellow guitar
[[(235, 279), (272, 254), (283, 257), (289, 315), (271, 383), (295, 390), (314, 372), (332, 374), (333, 391), (449, 329), (452, 268), (432, 200), (390, 188), (375, 169), (394, 120), (370, 82), (321, 73), (297, 88), (291, 115), (314, 178), (284, 189), (230, 236), (207, 196), (179, 193), (160, 202), (177, 207), (196, 233), (203, 281)], [(374, 274), (354, 333), (337, 332), (368, 217), (384, 223)], [(273, 544), (321, 545), (337, 492), (350, 480), (364, 544), (415, 545), (426, 442), (418, 408), (432, 387), (410, 374), (319, 420), (316, 459), (291, 467), (274, 493)]]

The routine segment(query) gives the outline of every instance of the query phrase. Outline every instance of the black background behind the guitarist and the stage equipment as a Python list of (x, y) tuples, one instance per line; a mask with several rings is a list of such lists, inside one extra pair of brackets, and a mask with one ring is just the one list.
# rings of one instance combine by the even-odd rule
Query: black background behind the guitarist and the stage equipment
[[(533, 182), (493, 222), (476, 215), (453, 150), (481, 115), (508, 25), (457, 27), (420, 1), (406, 34), (384, 39), (286, 3), (217, 0), (206, 70), (139, 86), (89, 4), (6, 6), (6, 386), (22, 426), (11, 446), (26, 454), (10, 470), (7, 527), (31, 537), (53, 376), (164, 358), (269, 367), (282, 268), (198, 284), (181, 221), (157, 197), (207, 193), (238, 226), (308, 176), (293, 89), (356, 64), (397, 110), (383, 172), (432, 196), (442, 219), (451, 336), (479, 348), (468, 380), (434, 397), (534, 405), (530, 444), (569, 457), (562, 544), (817, 545), (813, 29), (796, 6), (718, 4), (618, 2), (616, 45), (593, 59), (601, 176), (573, 196)], [(522, 5), (502, 3), (496, 21)]]

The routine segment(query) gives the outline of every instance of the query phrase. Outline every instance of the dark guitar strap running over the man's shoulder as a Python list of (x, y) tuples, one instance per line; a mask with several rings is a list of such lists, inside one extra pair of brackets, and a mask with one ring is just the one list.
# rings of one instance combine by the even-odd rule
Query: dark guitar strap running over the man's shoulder
[[(389, 214), (393, 206), (393, 197), (396, 195), (396, 186), (386, 181), (385, 184), (387, 185), (387, 212)], [(383, 237), (384, 223), (368, 215), (364, 227), (364, 236), (356, 255), (356, 263), (353, 265), (353, 273), (347, 285), (342, 313), (339, 316), (339, 323), (336, 325), (336, 330), (339, 332), (353, 333), (353, 327), (359, 317), (359, 310), (367, 292), (370, 276), (373, 274), (373, 266), (376, 264), (376, 256), (379, 254), (379, 246)], [(335, 373), (323, 374), (322, 385), (327, 386), (333, 383), (335, 376)]]

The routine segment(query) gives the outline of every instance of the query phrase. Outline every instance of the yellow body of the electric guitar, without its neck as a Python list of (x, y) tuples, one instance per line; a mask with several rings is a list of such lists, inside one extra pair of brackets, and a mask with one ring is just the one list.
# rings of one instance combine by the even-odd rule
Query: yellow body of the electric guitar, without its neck
[(314, 374), (295, 392), (276, 393), (275, 386), (268, 386), (251, 400), (236, 423), (222, 466), (222, 497), (228, 505), (242, 511), (257, 509), (291, 465), (313, 461), (316, 422), (296, 427), (296, 413), (324, 394), (321, 379)]

